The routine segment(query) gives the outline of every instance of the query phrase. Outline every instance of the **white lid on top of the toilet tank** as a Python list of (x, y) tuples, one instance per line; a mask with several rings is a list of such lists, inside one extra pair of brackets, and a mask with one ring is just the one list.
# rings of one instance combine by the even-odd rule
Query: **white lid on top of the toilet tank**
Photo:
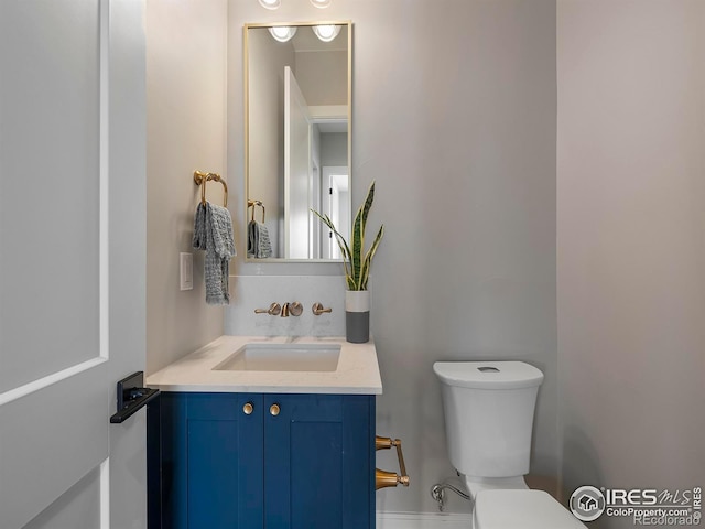
[(521, 389), (540, 386), (543, 373), (523, 361), (436, 361), (434, 373), (449, 386)]

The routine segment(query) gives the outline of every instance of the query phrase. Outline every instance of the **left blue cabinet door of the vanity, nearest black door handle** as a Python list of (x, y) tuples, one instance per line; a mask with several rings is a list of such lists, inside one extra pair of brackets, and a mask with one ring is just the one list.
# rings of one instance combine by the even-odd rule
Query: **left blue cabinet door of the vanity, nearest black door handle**
[(261, 529), (262, 396), (164, 397), (162, 527)]

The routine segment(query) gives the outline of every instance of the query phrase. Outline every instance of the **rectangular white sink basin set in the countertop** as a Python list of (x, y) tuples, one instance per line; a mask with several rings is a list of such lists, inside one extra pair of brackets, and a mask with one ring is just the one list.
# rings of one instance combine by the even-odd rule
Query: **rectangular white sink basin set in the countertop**
[(339, 344), (246, 344), (217, 371), (335, 371)]

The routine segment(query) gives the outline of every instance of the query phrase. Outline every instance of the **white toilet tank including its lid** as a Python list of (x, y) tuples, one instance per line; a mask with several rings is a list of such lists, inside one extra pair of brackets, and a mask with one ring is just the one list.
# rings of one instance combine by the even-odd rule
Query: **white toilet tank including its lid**
[(467, 476), (529, 473), (540, 369), (523, 361), (436, 361), (447, 446)]

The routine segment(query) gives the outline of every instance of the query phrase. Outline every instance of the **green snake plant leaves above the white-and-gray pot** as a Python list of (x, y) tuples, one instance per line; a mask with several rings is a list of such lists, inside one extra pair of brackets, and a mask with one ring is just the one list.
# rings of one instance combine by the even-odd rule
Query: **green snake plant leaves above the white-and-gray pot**
[(375, 181), (370, 184), (367, 191), (367, 197), (360, 205), (355, 215), (355, 223), (352, 223), (352, 234), (350, 236), (350, 245), (345, 240), (345, 237), (336, 229), (330, 217), (325, 214), (321, 214), (315, 209), (312, 213), (316, 215), (323, 224), (325, 224), (334, 234), (340, 253), (343, 255), (343, 267), (345, 269), (345, 281), (347, 282), (348, 290), (367, 290), (367, 281), (370, 276), (370, 264), (372, 258), (377, 251), (382, 235), (384, 235), (384, 225), (380, 226), (377, 237), (372, 241), (366, 253), (365, 248), (365, 228), (367, 227), (367, 215), (372, 207), (372, 201), (375, 199)]

